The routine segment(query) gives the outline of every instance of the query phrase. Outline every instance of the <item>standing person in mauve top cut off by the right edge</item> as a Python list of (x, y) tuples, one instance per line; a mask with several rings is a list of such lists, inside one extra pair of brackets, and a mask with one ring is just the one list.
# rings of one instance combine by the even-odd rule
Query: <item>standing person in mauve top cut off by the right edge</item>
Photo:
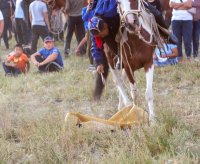
[(199, 50), (199, 35), (200, 35), (200, 0), (194, 0), (192, 6), (196, 8), (196, 13), (193, 15), (193, 57), (194, 60), (199, 61), (198, 50)]

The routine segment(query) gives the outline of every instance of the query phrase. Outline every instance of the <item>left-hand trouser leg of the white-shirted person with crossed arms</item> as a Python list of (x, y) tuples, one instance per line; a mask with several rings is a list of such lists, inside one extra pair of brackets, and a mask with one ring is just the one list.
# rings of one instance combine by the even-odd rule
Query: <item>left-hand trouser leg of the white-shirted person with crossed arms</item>
[(181, 20), (172, 21), (172, 31), (178, 39), (178, 44), (177, 44), (178, 58), (182, 60), (183, 54), (182, 54), (182, 21)]

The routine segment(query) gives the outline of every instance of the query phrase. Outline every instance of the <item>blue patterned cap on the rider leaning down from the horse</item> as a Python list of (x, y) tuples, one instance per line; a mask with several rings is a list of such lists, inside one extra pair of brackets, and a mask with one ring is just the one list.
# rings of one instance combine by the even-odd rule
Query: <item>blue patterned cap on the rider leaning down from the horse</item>
[(97, 35), (103, 30), (104, 21), (103, 19), (94, 16), (88, 23), (88, 29), (93, 35)]

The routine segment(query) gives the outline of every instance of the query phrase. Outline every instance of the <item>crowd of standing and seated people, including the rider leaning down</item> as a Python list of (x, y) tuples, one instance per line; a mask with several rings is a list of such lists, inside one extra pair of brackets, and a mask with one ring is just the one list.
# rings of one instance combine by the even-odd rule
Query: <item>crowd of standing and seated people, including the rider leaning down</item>
[[(76, 54), (86, 52), (90, 63), (95, 64), (98, 73), (106, 72), (108, 64), (103, 48), (106, 43), (114, 54), (118, 54), (115, 41), (120, 17), (116, 0), (88, 0), (83, 8), (83, 0), (66, 0), (66, 38), (64, 56), (70, 54), (73, 33), (76, 35)], [(159, 0), (146, 0), (145, 7), (155, 16), (156, 22), (167, 29), (161, 13)], [(183, 60), (182, 42), (187, 61), (198, 60), (200, 34), (200, 0), (170, 0), (172, 11), (172, 34), (163, 33), (163, 48), (157, 48), (153, 56), (155, 65), (173, 65)], [(51, 11), (54, 15), (55, 11)], [(62, 18), (61, 18), (62, 19)], [(29, 62), (23, 52), (30, 45), (30, 60), (42, 72), (63, 69), (60, 51), (54, 47), (51, 33), (50, 10), (46, 0), (0, 0), (0, 37), (6, 49), (10, 49), (9, 39), (12, 33), (16, 40), (15, 50), (3, 63), (6, 75), (25, 73)], [(162, 31), (160, 31), (162, 33)], [(39, 38), (44, 41), (44, 48), (37, 50)], [(91, 45), (90, 45), (91, 42)], [(87, 45), (87, 49), (86, 49)]]

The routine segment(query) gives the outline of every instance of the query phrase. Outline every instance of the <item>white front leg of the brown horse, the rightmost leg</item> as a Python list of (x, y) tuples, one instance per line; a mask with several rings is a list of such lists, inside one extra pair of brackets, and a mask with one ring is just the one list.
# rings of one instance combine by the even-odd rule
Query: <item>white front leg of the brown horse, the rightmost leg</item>
[(149, 107), (149, 120), (152, 121), (155, 118), (154, 105), (153, 105), (153, 73), (154, 65), (146, 71), (146, 93), (145, 97)]

